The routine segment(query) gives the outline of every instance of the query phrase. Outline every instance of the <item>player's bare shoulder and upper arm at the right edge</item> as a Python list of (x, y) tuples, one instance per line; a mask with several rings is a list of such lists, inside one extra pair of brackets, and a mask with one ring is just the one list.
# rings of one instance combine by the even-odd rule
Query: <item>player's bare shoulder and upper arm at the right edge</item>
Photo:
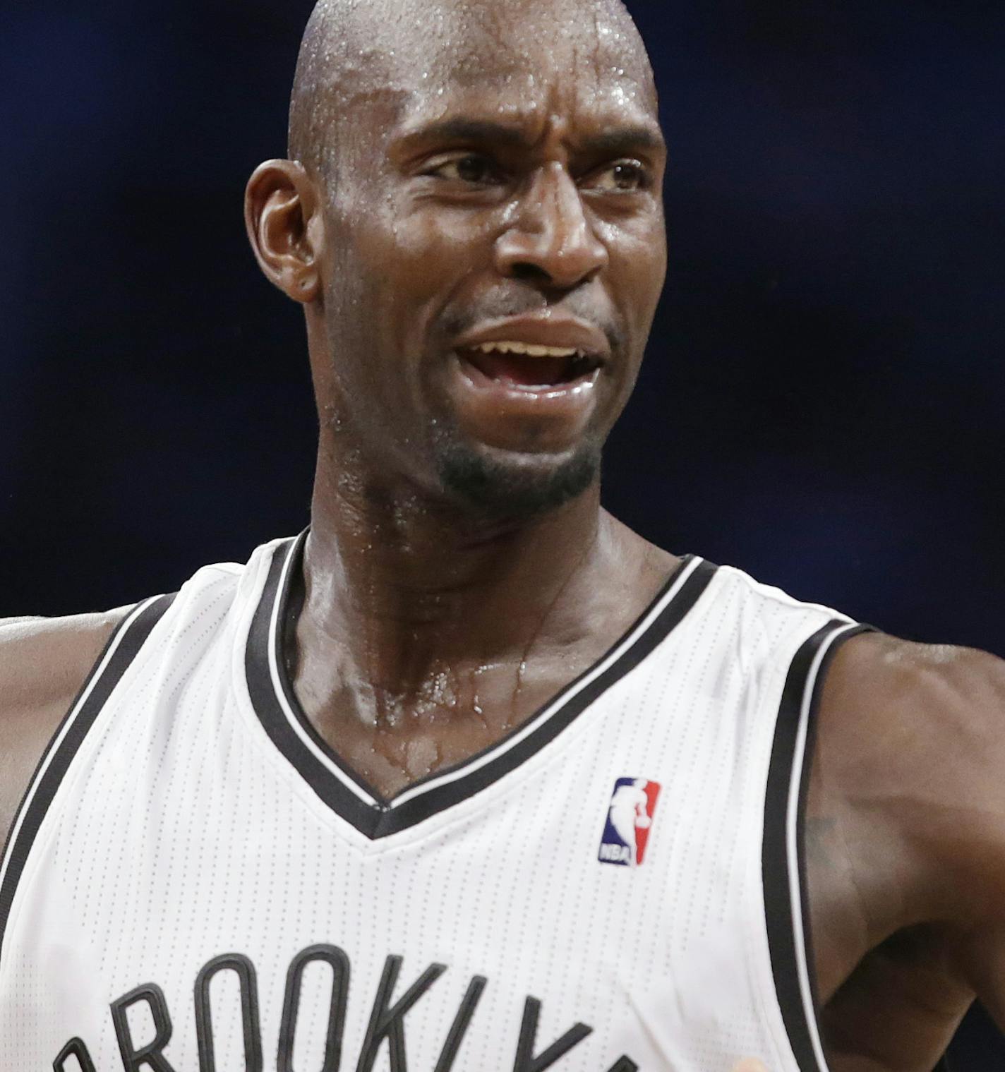
[(988, 985), (1005, 963), (1005, 662), (854, 636), (816, 727), (803, 847), (831, 1064), (932, 1068), (975, 994), (1005, 1015)]

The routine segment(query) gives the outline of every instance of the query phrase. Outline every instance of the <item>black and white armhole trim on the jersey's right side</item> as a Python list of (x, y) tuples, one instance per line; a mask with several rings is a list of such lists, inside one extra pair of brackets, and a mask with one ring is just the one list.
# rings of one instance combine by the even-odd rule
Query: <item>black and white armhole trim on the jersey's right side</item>
[(831, 659), (846, 640), (870, 629), (831, 621), (796, 653), (782, 690), (768, 769), (762, 855), (765, 917), (774, 989), (800, 1072), (827, 1072), (816, 1018), (804, 852), (816, 711)]

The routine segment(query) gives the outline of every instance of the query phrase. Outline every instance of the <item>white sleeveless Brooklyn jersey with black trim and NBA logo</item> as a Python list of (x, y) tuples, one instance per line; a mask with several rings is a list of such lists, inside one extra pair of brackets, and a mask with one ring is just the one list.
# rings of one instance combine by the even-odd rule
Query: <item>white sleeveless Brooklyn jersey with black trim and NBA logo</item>
[(0, 873), (3, 1072), (822, 1072), (800, 824), (860, 627), (685, 559), (498, 744), (381, 799), (284, 658), (304, 538), (118, 628)]

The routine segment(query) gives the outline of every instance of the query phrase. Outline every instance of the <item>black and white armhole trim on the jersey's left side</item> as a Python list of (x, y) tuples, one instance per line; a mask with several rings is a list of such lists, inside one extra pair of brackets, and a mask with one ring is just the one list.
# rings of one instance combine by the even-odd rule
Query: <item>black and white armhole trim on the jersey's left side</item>
[(0, 864), (0, 955), (14, 895), (49, 805), (112, 690), (174, 598), (166, 595), (146, 599), (115, 627), (35, 766), (8, 833)]

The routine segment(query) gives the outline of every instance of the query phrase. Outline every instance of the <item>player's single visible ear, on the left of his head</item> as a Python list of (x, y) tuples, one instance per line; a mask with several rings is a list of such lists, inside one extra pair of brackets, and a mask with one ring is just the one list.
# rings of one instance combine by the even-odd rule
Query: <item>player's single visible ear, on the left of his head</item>
[(292, 160), (267, 160), (248, 180), (245, 224), (266, 279), (294, 301), (311, 302), (321, 291), (324, 224), (314, 184)]

